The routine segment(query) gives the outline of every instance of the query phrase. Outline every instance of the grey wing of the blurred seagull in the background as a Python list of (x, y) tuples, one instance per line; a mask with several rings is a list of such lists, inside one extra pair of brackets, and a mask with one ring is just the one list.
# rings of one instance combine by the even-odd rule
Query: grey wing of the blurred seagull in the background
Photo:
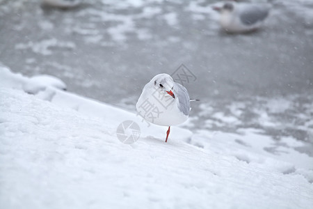
[(240, 20), (243, 24), (252, 25), (263, 21), (268, 16), (269, 8), (266, 6), (251, 5), (240, 14)]

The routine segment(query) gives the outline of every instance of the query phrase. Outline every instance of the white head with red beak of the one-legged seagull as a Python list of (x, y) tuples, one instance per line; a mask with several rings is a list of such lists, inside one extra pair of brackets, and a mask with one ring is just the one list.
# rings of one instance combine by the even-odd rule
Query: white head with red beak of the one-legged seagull
[(166, 73), (156, 75), (151, 79), (150, 84), (160, 94), (163, 94), (165, 96), (171, 96), (175, 99), (175, 95), (174, 93), (172, 93), (172, 90), (174, 88), (174, 81), (172, 77), (170, 77), (170, 75)]

